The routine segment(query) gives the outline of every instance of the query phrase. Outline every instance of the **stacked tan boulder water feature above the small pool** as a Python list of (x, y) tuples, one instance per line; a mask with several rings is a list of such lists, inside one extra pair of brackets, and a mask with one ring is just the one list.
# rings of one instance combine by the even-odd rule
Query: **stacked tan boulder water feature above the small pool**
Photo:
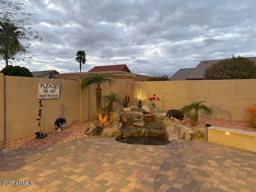
[[(149, 138), (166, 138), (172, 140), (200, 140), (207, 141), (207, 129), (204, 127), (192, 128), (180, 125), (180, 120), (166, 116), (159, 109), (150, 110), (147, 106), (138, 108), (116, 109), (110, 116), (112, 125), (102, 130), (101, 135), (105, 137), (118, 136), (120, 142), (132, 137), (131, 142), (148, 143)], [(145, 138), (140, 138), (145, 137)], [(129, 141), (128, 141), (129, 142)], [(150, 142), (149, 142), (150, 143)]]

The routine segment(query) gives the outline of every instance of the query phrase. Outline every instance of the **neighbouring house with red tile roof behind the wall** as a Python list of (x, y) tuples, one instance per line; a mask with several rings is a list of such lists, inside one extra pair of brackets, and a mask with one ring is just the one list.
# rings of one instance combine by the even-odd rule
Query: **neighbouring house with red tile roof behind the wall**
[(88, 72), (61, 73), (58, 79), (78, 80), (81, 76), (90, 74), (111, 74), (118, 79), (133, 79), (134, 81), (147, 81), (152, 76), (132, 73), (126, 65), (96, 66)]

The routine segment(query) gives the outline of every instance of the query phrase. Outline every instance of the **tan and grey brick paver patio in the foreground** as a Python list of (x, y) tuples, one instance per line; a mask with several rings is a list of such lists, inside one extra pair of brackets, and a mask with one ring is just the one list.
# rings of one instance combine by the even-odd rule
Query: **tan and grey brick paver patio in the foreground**
[(0, 191), (253, 192), (256, 153), (208, 142), (166, 146), (93, 136), (42, 149), (0, 148)]

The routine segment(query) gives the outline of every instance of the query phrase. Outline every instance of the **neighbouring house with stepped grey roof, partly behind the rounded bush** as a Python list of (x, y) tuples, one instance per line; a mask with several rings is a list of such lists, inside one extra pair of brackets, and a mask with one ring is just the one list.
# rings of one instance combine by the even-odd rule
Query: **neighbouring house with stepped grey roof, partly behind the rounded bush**
[[(256, 64), (256, 57), (247, 57)], [(224, 59), (201, 61), (195, 68), (183, 68), (174, 73), (170, 80), (203, 80), (204, 71)]]

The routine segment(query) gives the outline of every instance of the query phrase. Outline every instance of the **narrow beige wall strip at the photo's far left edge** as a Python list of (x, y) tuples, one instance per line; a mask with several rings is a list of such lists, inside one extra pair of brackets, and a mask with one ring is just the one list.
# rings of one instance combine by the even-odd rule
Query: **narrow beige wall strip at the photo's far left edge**
[(4, 75), (0, 73), (0, 142), (4, 142)]

